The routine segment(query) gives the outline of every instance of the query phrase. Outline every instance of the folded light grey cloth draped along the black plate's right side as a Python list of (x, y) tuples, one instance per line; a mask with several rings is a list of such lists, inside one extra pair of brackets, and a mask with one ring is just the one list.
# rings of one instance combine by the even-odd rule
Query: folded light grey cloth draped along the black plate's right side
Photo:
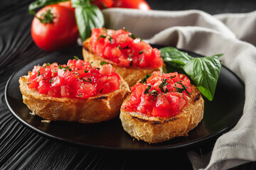
[(176, 46), (205, 56), (223, 53), (223, 64), (245, 83), (242, 118), (218, 138), (212, 152), (188, 152), (188, 157), (193, 169), (230, 169), (256, 161), (255, 12), (210, 16), (196, 10), (145, 12), (111, 8), (103, 13), (107, 28), (125, 27), (152, 44)]

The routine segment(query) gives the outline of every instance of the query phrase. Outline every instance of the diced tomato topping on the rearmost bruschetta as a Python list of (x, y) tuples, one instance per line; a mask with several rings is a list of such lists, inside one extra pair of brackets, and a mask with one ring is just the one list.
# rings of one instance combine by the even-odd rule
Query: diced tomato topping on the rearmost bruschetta
[(157, 69), (164, 64), (158, 49), (124, 29), (94, 28), (90, 45), (97, 55), (122, 67)]

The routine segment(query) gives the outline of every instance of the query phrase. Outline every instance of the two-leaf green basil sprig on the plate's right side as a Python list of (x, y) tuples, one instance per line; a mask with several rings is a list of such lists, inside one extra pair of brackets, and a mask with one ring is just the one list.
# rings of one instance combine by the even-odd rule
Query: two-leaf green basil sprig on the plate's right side
[(212, 57), (191, 57), (186, 52), (181, 52), (175, 47), (164, 47), (160, 49), (161, 57), (171, 67), (182, 69), (195, 83), (198, 90), (213, 100), (218, 77), (220, 75), (222, 55)]

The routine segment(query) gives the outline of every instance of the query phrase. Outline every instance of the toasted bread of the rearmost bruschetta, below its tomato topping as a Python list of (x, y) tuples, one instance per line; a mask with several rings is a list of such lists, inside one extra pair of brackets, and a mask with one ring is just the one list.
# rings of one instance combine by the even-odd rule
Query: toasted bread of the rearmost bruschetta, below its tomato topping
[(163, 67), (160, 67), (159, 69), (142, 69), (138, 67), (120, 67), (116, 63), (106, 60), (98, 55), (96, 55), (93, 50), (92, 46), (90, 45), (90, 38), (85, 40), (85, 42), (82, 43), (82, 55), (85, 60), (85, 62), (92, 62), (92, 66), (99, 67), (100, 62), (107, 62), (112, 64), (112, 67), (114, 68), (114, 72), (119, 74), (121, 77), (124, 78), (125, 81), (127, 81), (127, 84), (129, 86), (133, 86), (137, 83), (139, 79), (143, 79), (146, 74), (151, 75), (154, 71), (161, 71), (163, 72)]

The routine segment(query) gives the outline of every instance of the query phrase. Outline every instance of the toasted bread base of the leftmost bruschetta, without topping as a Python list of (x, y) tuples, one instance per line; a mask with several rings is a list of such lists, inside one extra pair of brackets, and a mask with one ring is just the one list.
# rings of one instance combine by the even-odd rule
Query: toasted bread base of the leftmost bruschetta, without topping
[(65, 120), (79, 123), (99, 123), (115, 118), (120, 113), (122, 101), (129, 94), (129, 86), (121, 77), (117, 91), (93, 96), (84, 100), (76, 98), (54, 98), (39, 94), (36, 89), (28, 89), (28, 76), (20, 77), (23, 103), (46, 120)]

